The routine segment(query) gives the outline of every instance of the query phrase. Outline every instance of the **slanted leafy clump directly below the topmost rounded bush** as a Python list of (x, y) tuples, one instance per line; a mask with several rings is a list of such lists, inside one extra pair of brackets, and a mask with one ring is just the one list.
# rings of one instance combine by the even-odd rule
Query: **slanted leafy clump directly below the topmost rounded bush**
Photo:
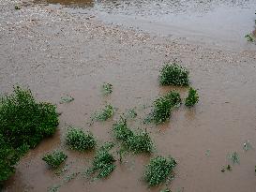
[(154, 101), (153, 111), (150, 114), (150, 121), (156, 124), (164, 123), (170, 118), (172, 109), (181, 104), (181, 98), (177, 92), (169, 92), (165, 96), (159, 96)]

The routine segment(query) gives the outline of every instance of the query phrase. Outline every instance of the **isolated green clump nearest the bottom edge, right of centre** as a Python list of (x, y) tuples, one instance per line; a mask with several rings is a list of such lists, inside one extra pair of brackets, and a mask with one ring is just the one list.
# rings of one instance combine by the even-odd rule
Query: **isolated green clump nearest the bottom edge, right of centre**
[(172, 157), (154, 157), (146, 166), (144, 180), (150, 186), (159, 185), (166, 181), (176, 164)]

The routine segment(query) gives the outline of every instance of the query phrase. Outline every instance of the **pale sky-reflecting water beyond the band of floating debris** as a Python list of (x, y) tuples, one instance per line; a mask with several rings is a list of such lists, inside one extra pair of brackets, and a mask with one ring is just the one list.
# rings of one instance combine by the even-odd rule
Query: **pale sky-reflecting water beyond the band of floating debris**
[[(41, 1), (39, 1), (41, 2)], [(227, 49), (255, 49), (245, 35), (255, 30), (256, 0), (47, 0), (98, 19), (170, 38)]]

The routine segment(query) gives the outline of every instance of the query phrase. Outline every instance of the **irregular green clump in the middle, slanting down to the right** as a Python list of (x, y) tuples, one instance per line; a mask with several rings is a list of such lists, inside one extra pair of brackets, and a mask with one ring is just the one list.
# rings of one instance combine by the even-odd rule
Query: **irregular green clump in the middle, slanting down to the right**
[(122, 119), (113, 125), (113, 135), (120, 140), (123, 146), (133, 153), (151, 153), (153, 142), (146, 131), (135, 133), (127, 126), (127, 121)]

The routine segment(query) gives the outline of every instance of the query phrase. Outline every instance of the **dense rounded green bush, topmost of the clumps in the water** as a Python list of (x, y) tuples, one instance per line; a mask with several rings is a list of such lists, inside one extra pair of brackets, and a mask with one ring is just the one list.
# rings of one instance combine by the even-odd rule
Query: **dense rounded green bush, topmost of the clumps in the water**
[(158, 79), (161, 85), (187, 86), (188, 74), (188, 69), (174, 60), (173, 63), (167, 63), (160, 69)]

